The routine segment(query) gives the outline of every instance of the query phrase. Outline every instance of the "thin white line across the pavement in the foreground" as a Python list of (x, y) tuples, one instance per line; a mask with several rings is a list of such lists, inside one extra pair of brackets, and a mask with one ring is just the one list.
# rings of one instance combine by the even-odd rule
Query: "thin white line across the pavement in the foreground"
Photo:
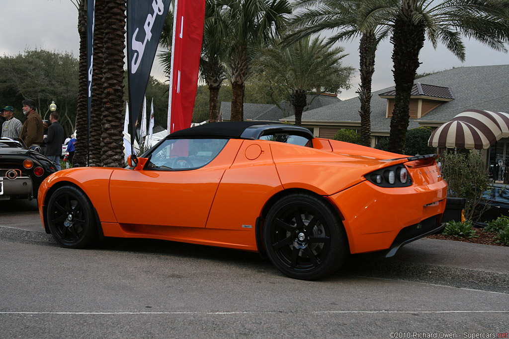
[(509, 313), (499, 310), (448, 310), (448, 311), (313, 311), (313, 312), (0, 312), (0, 315), (236, 315), (236, 314), (453, 314), (453, 313)]

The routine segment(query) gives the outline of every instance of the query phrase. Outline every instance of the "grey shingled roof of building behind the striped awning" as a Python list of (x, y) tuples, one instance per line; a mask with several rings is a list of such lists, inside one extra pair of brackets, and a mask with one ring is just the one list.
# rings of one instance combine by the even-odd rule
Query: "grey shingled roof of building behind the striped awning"
[[(456, 98), (444, 102), (420, 119), (410, 119), (408, 129), (434, 122), (446, 122), (466, 109), (482, 109), (509, 113), (509, 65), (458, 67), (418, 79), (420, 83), (449, 87)], [(385, 117), (387, 99), (379, 95), (394, 90), (394, 86), (373, 92), (371, 98), (371, 129), (390, 131), (390, 118)], [(302, 113), (306, 122), (360, 122), (360, 103), (352, 98)], [(285, 120), (295, 120), (289, 116)]]

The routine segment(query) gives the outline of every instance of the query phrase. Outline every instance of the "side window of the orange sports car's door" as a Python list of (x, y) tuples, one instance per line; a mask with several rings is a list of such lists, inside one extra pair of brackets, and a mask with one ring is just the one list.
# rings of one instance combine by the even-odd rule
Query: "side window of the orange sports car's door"
[(228, 139), (170, 139), (151, 153), (145, 169), (192, 170), (210, 163)]

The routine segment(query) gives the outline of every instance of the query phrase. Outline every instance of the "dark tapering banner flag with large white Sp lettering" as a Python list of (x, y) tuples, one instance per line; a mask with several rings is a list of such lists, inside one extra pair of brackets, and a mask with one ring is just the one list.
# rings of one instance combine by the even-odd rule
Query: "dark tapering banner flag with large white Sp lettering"
[(127, 0), (127, 81), (129, 83), (129, 125), (134, 153), (136, 121), (142, 110), (164, 20), (171, 0)]

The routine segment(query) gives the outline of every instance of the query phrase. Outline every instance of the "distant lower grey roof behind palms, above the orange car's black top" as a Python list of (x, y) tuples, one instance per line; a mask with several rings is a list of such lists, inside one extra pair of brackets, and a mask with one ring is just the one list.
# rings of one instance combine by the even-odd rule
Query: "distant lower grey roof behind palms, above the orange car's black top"
[[(322, 94), (319, 96), (308, 94), (308, 105), (304, 110), (316, 109), (322, 106), (330, 105), (340, 102), (337, 96)], [(292, 105), (284, 100), (280, 103), (281, 109), (276, 105), (270, 104), (249, 104), (244, 103), (244, 120), (265, 120), (265, 121), (279, 121), (280, 119), (288, 116), (293, 112)], [(221, 101), (221, 114), (225, 120), (230, 120), (232, 117), (232, 103), (229, 101)]]

